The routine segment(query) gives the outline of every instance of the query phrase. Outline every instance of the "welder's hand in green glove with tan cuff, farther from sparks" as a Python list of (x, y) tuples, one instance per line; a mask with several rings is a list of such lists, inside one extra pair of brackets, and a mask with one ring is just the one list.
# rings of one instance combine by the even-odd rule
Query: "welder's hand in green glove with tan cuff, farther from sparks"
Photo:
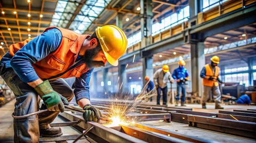
[(64, 104), (69, 104), (67, 99), (61, 96), (59, 93), (52, 89), (52, 86), (48, 80), (37, 85), (35, 91), (43, 99), (47, 110), (49, 111), (61, 111), (64, 112)]

